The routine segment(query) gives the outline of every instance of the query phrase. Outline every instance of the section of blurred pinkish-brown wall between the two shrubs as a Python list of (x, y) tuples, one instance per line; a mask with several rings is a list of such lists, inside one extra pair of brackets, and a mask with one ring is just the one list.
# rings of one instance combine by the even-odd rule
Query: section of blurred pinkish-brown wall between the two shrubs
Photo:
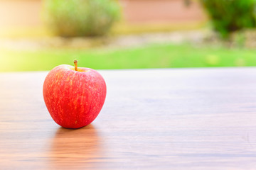
[(178, 23), (203, 21), (201, 6), (193, 2), (186, 6), (183, 0), (119, 0), (124, 20), (128, 23)]

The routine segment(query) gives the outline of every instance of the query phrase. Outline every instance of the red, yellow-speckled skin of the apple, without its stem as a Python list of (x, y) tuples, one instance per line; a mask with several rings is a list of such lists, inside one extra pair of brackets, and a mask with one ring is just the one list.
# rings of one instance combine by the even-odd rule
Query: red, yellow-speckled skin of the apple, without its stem
[(82, 128), (92, 123), (105, 102), (107, 87), (94, 69), (70, 65), (53, 68), (43, 83), (46, 107), (63, 128)]

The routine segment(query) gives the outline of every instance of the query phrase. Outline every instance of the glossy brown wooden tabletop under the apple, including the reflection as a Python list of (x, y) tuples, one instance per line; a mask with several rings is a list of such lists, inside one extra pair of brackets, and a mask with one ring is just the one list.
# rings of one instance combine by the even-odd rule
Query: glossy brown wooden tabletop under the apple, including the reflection
[(107, 98), (85, 128), (60, 128), (47, 72), (0, 74), (0, 169), (256, 169), (256, 69), (100, 72)]

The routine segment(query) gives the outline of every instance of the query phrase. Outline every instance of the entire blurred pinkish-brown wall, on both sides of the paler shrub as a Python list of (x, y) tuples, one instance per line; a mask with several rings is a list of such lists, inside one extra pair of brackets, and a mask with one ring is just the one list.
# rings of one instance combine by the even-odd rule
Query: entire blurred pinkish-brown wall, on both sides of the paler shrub
[[(119, 0), (127, 23), (178, 23), (203, 21), (197, 3), (186, 7), (183, 0)], [(39, 27), (41, 0), (0, 0), (0, 29)]]

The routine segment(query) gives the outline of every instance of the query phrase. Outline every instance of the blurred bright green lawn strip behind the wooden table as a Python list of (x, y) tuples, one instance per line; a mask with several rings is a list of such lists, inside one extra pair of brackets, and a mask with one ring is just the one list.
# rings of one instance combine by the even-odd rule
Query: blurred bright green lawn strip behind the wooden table
[(256, 50), (192, 45), (147, 45), (125, 49), (0, 50), (0, 72), (50, 70), (59, 64), (93, 69), (256, 66)]

